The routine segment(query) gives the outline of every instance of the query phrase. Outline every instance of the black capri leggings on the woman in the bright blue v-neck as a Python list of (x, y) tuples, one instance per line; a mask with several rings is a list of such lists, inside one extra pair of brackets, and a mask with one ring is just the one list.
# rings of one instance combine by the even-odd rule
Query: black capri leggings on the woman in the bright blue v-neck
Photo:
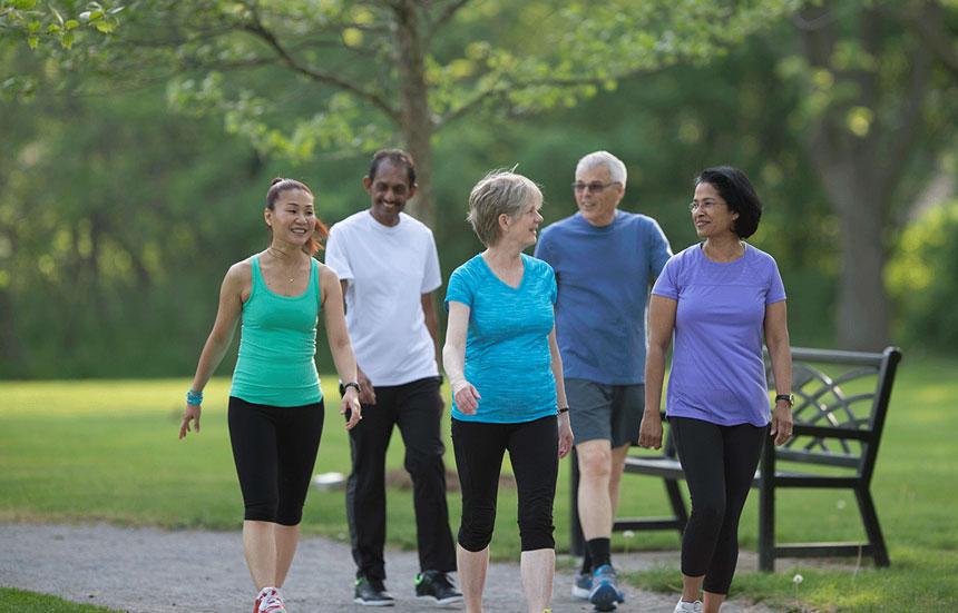
[(551, 550), (553, 502), (559, 475), (558, 421), (489, 424), (452, 419), (452, 448), (462, 491), (459, 544), (470, 552), (492, 540), (502, 457), (509, 452), (519, 493), (522, 551)]

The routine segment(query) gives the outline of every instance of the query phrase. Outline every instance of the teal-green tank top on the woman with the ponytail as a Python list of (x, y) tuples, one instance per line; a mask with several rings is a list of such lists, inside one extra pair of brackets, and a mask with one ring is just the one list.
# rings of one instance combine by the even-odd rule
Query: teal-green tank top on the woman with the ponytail
[(321, 305), (319, 263), (312, 260), (310, 285), (299, 296), (271, 290), (260, 270), (260, 256), (251, 263), (253, 289), (243, 304), (240, 357), (229, 395), (270, 406), (319, 403), (323, 392), (313, 359)]

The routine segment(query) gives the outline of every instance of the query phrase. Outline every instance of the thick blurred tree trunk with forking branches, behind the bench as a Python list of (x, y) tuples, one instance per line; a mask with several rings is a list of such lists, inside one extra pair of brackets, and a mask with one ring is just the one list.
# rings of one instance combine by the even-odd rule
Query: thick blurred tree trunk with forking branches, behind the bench
[[(901, 172), (920, 123), (928, 89), (928, 53), (915, 53), (910, 82), (888, 87), (878, 71), (835, 68), (840, 43), (833, 4), (802, 11), (802, 43), (809, 65), (828, 70), (835, 88), (853, 87), (856, 99), (833, 102), (812, 120), (808, 154), (839, 216), (841, 270), (837, 332), (842, 348), (878, 350), (889, 343), (889, 303), (883, 270), (888, 259), (886, 233), (892, 226), (891, 206)], [(856, 42), (877, 61), (895, 53), (886, 47), (886, 18), (876, 9), (857, 16)], [(890, 49), (890, 50), (889, 50)], [(901, 52), (898, 50), (898, 52)], [(853, 135), (847, 117), (852, 107), (873, 110), (864, 134)]]

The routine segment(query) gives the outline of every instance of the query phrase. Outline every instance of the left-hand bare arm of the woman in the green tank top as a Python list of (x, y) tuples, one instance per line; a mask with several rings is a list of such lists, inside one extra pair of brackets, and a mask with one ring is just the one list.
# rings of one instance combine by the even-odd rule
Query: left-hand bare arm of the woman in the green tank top
[[(196, 374), (193, 376), (190, 389), (194, 392), (203, 392), (233, 343), (236, 323), (243, 313), (243, 296), (251, 284), (252, 270), (248, 263), (234, 264), (226, 271), (223, 284), (219, 286), (219, 306), (216, 310), (216, 320), (213, 324), (213, 330), (206, 338), (203, 352), (199, 354), (199, 363), (196, 365)], [(199, 414), (201, 405), (186, 405), (179, 424), (179, 438), (190, 432), (189, 422), (193, 422), (196, 432), (199, 432)]]

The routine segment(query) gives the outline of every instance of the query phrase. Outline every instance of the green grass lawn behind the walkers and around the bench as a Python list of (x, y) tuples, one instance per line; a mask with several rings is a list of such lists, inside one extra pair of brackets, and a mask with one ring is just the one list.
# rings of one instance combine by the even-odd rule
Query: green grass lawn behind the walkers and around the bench
[[(891, 568), (874, 570), (868, 561), (858, 572), (788, 568), (780, 562), (780, 572), (773, 575), (740, 573), (733, 591), (794, 611), (958, 610), (956, 372), (955, 360), (919, 362), (908, 356), (899, 369), (872, 485)], [(338, 414), (335, 379), (325, 380), (331, 404), (316, 472), (348, 473), (349, 442)], [(228, 380), (214, 379), (207, 387), (203, 432), (177, 441), (187, 386), (185, 378), (0, 383), (0, 521), (238, 530), (242, 500), (226, 432)], [(447, 424), (443, 431), (448, 429)], [(397, 477), (403, 474), (402, 448), (397, 442), (390, 451)], [(451, 448), (447, 462), (451, 468)], [(389, 493), (390, 543), (412, 548), (411, 492), (401, 478), (394, 482)], [(559, 551), (568, 548), (568, 498), (564, 461), (555, 508)], [(742, 546), (747, 550), (756, 545), (756, 501), (757, 496), (750, 498), (742, 517)], [(454, 493), (449, 506), (454, 526), (459, 514)], [(625, 477), (622, 506), (623, 515), (664, 514), (667, 508), (659, 482), (635, 476)], [(848, 493), (785, 492), (779, 510), (780, 541), (862, 537)], [(303, 530), (345, 541), (343, 493), (312, 491)], [(493, 556), (517, 560), (518, 542), (515, 495), (504, 492)], [(629, 542), (616, 535), (614, 546), (677, 548), (678, 538), (668, 532), (643, 533)], [(801, 584), (792, 582), (795, 574), (803, 576)], [(675, 568), (627, 579), (668, 591), (678, 583)], [(0, 604), (9, 602), (8, 592), (0, 592)]]

